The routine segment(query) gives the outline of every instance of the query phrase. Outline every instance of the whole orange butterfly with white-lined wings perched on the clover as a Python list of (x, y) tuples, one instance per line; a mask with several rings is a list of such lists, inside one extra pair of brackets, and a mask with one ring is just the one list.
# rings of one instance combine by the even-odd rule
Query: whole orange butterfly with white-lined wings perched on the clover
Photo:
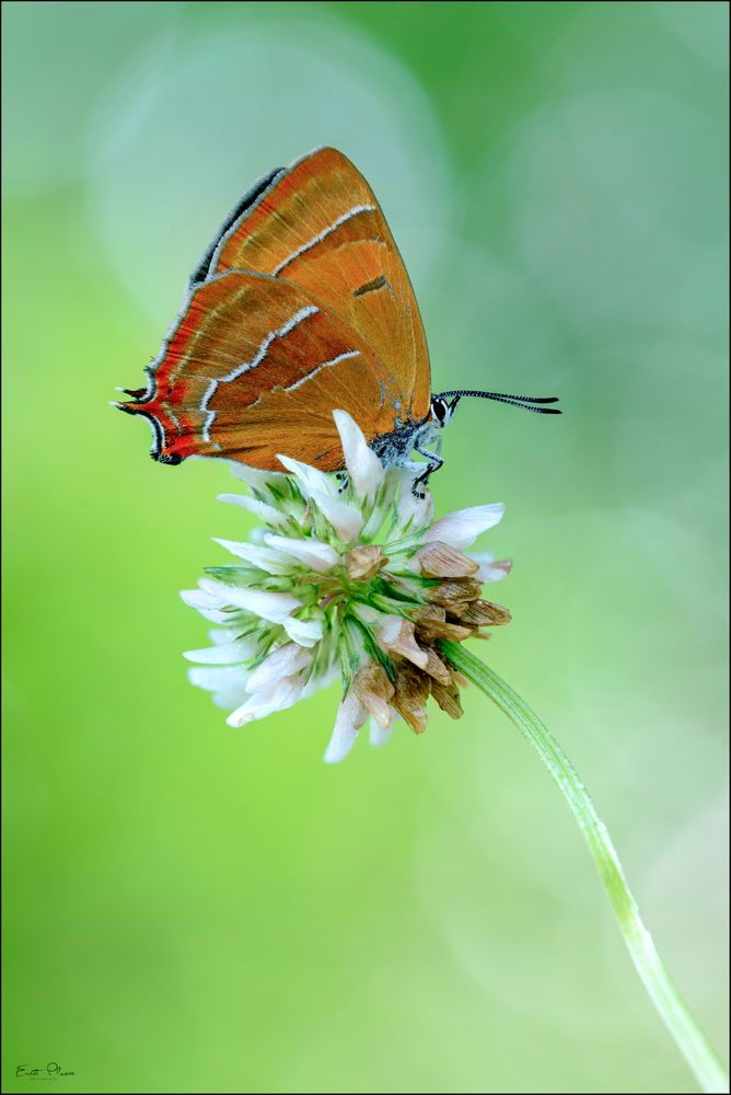
[(338, 471), (340, 408), (386, 466), (419, 473), (416, 488), (442, 465), (439, 430), (463, 396), (560, 414), (539, 405), (555, 397), (431, 394), (406, 267), (371, 187), (334, 148), (270, 171), (231, 211), (147, 373), (115, 406), (148, 419), (151, 456), (166, 464), (221, 457), (281, 471), (285, 452)]

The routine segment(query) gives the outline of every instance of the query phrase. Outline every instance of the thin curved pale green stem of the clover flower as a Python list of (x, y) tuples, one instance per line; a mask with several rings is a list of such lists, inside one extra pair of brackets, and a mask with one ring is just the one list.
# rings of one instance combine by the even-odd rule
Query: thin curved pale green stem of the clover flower
[(652, 1003), (706, 1092), (728, 1092), (723, 1065), (665, 969), (603, 821), (570, 760), (541, 719), (497, 673), (456, 643), (440, 644), (450, 662), (509, 716), (541, 757), (576, 818)]

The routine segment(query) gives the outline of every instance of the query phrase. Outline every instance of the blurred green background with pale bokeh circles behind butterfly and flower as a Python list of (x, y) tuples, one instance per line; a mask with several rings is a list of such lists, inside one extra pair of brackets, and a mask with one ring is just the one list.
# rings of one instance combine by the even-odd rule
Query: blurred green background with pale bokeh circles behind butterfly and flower
[(557, 792), (476, 691), (326, 768), (337, 690), (231, 730), (179, 601), (224, 465), (107, 406), (216, 226), (334, 143), (382, 200), (440, 511), (507, 503), (490, 664), (727, 1029), (723, 3), (5, 3), (5, 1091), (680, 1092)]

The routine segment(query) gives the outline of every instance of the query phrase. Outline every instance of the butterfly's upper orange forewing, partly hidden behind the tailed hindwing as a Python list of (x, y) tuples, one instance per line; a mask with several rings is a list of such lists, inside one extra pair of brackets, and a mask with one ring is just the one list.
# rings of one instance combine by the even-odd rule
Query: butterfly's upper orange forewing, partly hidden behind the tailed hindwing
[(429, 413), (423, 325), (381, 207), (358, 169), (334, 148), (272, 173), (216, 246), (208, 276), (259, 270), (308, 289), (374, 349), (402, 394), (402, 420)]

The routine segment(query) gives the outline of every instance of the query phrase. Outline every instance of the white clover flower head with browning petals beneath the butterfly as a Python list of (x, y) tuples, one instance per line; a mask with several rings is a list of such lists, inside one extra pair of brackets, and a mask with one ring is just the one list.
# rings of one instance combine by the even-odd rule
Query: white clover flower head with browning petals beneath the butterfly
[[(508, 623), (507, 609), (480, 600), (481, 584), (509, 562), (463, 549), (502, 517), (473, 506), (433, 521), (414, 473), (384, 469), (344, 411), (334, 413), (347, 479), (287, 456), (289, 474), (233, 465), (248, 495), (223, 494), (264, 525), (246, 542), (218, 540), (235, 556), (207, 567), (183, 600), (217, 624), (213, 644), (185, 655), (193, 684), (234, 708), (230, 726), (264, 718), (343, 679), (343, 700), (325, 760), (343, 760), (370, 716), (373, 745), (394, 721), (427, 726), (427, 700), (462, 715), (460, 676), (439, 648)], [(487, 637), (483, 635), (483, 637)]]

